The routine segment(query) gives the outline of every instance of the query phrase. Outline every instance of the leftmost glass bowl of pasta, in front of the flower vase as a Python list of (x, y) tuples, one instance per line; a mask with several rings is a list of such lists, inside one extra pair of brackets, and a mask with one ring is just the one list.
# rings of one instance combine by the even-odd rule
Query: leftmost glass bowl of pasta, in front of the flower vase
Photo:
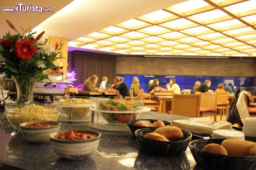
[(10, 124), (18, 131), (19, 125), (26, 121), (48, 120), (58, 121), (62, 113), (62, 105), (48, 103), (9, 104), (5, 106), (5, 114)]

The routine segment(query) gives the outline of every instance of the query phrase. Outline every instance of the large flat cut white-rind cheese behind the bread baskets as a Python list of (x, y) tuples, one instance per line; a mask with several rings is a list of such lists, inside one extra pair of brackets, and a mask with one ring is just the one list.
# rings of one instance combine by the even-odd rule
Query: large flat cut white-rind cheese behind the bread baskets
[(204, 125), (201, 123), (196, 123), (188, 119), (174, 120), (172, 124), (177, 125), (181, 130), (187, 130), (195, 134), (207, 134), (212, 135), (214, 130), (217, 129), (232, 129), (231, 123), (223, 120), (212, 125)]

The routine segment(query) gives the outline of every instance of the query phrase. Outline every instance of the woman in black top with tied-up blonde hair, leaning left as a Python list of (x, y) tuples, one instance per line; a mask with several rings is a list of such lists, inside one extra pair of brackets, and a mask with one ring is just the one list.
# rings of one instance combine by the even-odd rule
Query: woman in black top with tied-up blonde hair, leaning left
[[(114, 84), (111, 85), (113, 89), (116, 89), (119, 91), (119, 94), (124, 97), (130, 96), (129, 94), (129, 89), (126, 83), (123, 82), (124, 78), (123, 77), (115, 77), (114, 78)], [(118, 87), (117, 87), (118, 86)]]

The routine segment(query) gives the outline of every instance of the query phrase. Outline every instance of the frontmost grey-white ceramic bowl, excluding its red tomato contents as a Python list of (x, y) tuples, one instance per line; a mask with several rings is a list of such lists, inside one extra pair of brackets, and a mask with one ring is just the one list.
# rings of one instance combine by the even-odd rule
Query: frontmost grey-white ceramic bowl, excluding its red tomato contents
[(87, 132), (90, 134), (94, 134), (97, 137), (88, 139), (88, 140), (80, 140), (80, 141), (66, 141), (59, 140), (54, 138), (54, 136), (62, 133), (62, 132), (70, 132), (71, 130), (64, 130), (55, 132), (50, 134), (50, 142), (52, 144), (53, 151), (67, 160), (82, 160), (88, 158), (91, 154), (93, 154), (98, 148), (98, 144), (100, 142), (100, 132), (92, 131), (92, 130), (73, 130), (74, 132)]

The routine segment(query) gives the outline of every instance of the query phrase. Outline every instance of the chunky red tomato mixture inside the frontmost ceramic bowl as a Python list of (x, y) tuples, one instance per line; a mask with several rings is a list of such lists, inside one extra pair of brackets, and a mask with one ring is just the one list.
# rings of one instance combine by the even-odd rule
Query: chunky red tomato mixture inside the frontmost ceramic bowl
[(54, 138), (60, 139), (60, 140), (66, 140), (66, 141), (80, 141), (80, 140), (87, 140), (97, 137), (94, 134), (90, 133), (84, 133), (84, 132), (74, 132), (71, 130), (70, 132), (62, 132)]

